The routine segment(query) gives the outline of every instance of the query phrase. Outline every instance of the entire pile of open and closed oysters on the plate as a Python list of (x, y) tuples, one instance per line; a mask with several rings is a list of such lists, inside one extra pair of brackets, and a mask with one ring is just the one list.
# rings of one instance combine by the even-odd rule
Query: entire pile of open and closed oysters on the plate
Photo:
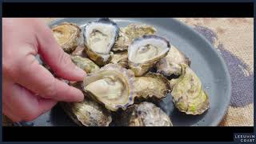
[(168, 93), (182, 113), (197, 115), (209, 109), (209, 98), (190, 69), (190, 59), (156, 35), (153, 26), (119, 27), (100, 18), (82, 28), (62, 22), (51, 30), (87, 74), (83, 82), (68, 82), (82, 90), (84, 101), (60, 102), (79, 126), (173, 126), (158, 107)]

